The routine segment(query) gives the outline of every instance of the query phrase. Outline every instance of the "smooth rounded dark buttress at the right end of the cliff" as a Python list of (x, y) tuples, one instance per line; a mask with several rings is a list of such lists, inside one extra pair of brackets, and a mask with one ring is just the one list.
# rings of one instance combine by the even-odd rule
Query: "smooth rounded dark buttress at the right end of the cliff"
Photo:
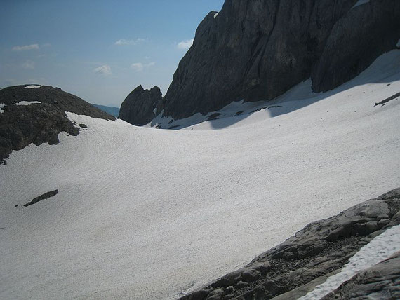
[(333, 27), (314, 67), (312, 87), (331, 90), (364, 71), (400, 38), (400, 1), (371, 0), (348, 11)]

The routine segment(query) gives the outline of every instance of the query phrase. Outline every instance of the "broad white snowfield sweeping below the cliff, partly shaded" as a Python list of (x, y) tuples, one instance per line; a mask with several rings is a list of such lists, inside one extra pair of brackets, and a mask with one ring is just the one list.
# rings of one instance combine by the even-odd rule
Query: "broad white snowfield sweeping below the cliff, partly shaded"
[(398, 187), (400, 102), (374, 104), (399, 66), (393, 50), (331, 92), (305, 81), (185, 130), (67, 113), (88, 130), (0, 166), (0, 298), (173, 299)]

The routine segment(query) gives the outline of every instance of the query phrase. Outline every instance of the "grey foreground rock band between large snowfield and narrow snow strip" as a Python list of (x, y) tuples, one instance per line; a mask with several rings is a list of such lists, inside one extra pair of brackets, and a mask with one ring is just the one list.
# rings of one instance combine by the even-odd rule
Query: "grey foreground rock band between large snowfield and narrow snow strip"
[(375, 236), (398, 224), (400, 188), (308, 224), (244, 268), (181, 299), (298, 299), (340, 271)]

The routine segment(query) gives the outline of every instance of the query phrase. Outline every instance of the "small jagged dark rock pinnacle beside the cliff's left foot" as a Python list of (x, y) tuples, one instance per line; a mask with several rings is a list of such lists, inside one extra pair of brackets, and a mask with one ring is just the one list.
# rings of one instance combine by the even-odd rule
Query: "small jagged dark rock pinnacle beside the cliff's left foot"
[(119, 118), (133, 125), (145, 125), (161, 112), (162, 101), (158, 86), (150, 90), (138, 86), (122, 102)]

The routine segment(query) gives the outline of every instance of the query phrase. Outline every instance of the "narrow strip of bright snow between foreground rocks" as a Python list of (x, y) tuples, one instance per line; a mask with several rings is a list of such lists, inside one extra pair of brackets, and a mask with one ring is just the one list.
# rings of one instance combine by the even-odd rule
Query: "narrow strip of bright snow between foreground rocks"
[(375, 237), (370, 243), (362, 247), (354, 257), (349, 259), (340, 273), (329, 277), (326, 282), (318, 285), (312, 292), (302, 296), (299, 300), (321, 299), (340, 287), (343, 282), (351, 279), (359, 271), (388, 259), (399, 250), (400, 225), (387, 229), (387, 231)]

